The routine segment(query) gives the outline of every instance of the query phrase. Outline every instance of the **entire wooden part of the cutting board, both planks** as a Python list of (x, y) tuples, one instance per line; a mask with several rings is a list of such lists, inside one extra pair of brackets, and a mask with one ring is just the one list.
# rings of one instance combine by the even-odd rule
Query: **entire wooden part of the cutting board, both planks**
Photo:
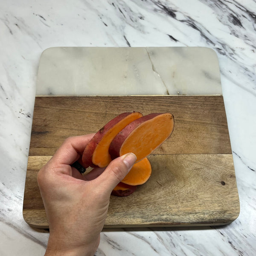
[(239, 215), (222, 96), (37, 96), (23, 217), (47, 228), (36, 180), (69, 136), (96, 132), (122, 112), (171, 112), (172, 136), (151, 154), (152, 175), (134, 194), (111, 196), (105, 227), (221, 225)]

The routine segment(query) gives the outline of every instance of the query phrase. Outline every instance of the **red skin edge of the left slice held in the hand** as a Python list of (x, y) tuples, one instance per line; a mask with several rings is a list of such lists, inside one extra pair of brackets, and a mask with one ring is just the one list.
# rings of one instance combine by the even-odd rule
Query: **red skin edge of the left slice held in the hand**
[(116, 116), (111, 121), (109, 121), (106, 125), (104, 125), (99, 131), (93, 136), (93, 138), (90, 140), (90, 142), (87, 144), (87, 146), (84, 149), (83, 155), (82, 155), (82, 162), (84, 166), (90, 166), (90, 167), (98, 167), (95, 164), (93, 164), (92, 158), (93, 158), (93, 152), (96, 148), (96, 146), (99, 144), (99, 142), (102, 140), (104, 135), (108, 130), (110, 130), (114, 125), (116, 125), (118, 122), (120, 122), (122, 119), (124, 119), (126, 116), (130, 115), (133, 112), (125, 112), (120, 114), (119, 116)]

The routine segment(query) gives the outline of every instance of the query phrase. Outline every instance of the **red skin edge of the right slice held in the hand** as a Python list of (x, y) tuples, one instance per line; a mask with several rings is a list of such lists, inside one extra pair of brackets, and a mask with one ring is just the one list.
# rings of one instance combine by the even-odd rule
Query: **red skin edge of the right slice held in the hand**
[(143, 122), (146, 122), (161, 114), (164, 113), (151, 113), (146, 116), (142, 116), (128, 124), (124, 129), (122, 129), (122, 131), (120, 131), (119, 134), (117, 134), (116, 137), (112, 140), (109, 146), (109, 154), (111, 155), (111, 158), (115, 159), (116, 157), (120, 156), (119, 152), (122, 144), (124, 143), (125, 139), (131, 134), (131, 132), (134, 131), (134, 129), (136, 129)]

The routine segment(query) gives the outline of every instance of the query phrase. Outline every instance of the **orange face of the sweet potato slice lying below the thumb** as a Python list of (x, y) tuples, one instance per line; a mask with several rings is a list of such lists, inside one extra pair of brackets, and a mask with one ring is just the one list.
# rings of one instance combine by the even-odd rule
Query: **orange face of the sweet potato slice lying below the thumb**
[(124, 177), (122, 183), (136, 186), (144, 184), (151, 176), (152, 168), (147, 157), (135, 163), (131, 171)]

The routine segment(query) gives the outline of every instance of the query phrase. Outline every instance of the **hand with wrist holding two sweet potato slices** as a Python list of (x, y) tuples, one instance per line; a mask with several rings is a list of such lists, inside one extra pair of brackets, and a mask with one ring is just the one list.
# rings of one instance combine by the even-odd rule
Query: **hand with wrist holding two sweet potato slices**
[(136, 156), (128, 153), (104, 169), (81, 175), (70, 165), (81, 159), (93, 135), (65, 140), (38, 172), (50, 230), (46, 256), (91, 256), (96, 252), (111, 191), (136, 161)]

